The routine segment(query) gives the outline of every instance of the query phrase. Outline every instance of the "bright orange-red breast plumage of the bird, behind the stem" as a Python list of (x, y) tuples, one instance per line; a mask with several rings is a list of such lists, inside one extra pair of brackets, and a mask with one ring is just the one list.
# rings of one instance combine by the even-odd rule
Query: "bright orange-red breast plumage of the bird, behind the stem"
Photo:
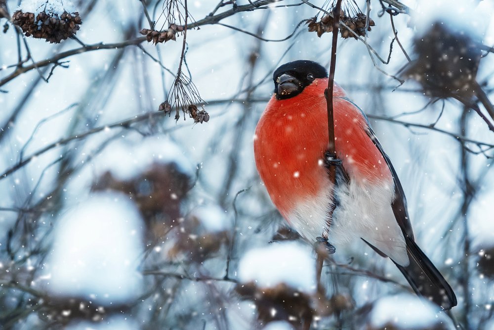
[[(273, 95), (254, 136), (254, 157), (261, 180), (276, 207), (287, 218), (292, 207), (332, 189), (324, 163), (328, 150), (328, 117), (324, 91), (328, 79), (316, 79), (301, 94), (278, 100)], [(351, 180), (378, 183), (391, 173), (366, 133), (367, 121), (334, 85), (336, 154)]]

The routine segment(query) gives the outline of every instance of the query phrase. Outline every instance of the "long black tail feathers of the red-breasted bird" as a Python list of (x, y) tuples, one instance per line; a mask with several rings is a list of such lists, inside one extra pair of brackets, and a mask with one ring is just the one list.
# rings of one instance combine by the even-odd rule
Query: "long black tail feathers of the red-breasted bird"
[[(456, 306), (456, 296), (450, 284), (439, 273), (434, 264), (427, 258), (418, 245), (410, 237), (405, 237), (410, 265), (395, 265), (403, 273), (416, 294), (430, 299), (444, 310)], [(394, 262), (394, 261), (393, 261)]]

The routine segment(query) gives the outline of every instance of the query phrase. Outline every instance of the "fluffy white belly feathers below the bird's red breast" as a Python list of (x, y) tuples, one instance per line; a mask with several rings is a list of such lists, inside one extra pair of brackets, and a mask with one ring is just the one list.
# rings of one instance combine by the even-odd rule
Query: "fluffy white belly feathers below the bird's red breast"
[[(329, 191), (328, 187), (316, 198), (299, 203), (288, 217), (295, 230), (310, 242), (328, 231), (326, 224), (332, 202)], [(328, 232), (328, 240), (336, 250), (364, 238), (396, 263), (409, 264), (405, 238), (391, 208), (394, 185), (376, 187), (350, 180), (349, 185), (337, 187), (336, 196), (339, 204)]]

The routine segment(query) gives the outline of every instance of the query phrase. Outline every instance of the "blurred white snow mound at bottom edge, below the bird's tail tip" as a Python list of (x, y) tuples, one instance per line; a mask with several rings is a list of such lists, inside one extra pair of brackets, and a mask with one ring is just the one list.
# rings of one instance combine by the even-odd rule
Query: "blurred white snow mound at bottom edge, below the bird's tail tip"
[(371, 325), (376, 328), (392, 324), (400, 329), (428, 329), (438, 323), (450, 325), (438, 306), (411, 294), (380, 298), (371, 311)]

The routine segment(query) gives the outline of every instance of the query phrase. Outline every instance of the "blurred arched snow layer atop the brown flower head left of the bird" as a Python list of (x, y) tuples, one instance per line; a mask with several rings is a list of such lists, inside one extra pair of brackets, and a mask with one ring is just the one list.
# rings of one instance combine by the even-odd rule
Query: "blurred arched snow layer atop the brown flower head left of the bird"
[[(173, 142), (163, 137), (144, 138), (138, 142), (116, 141), (99, 160), (102, 171), (109, 170), (120, 180), (130, 180), (145, 171), (152, 163), (174, 162), (178, 169), (191, 177), (195, 167), (184, 152)], [(105, 158), (106, 157), (106, 158)]]

